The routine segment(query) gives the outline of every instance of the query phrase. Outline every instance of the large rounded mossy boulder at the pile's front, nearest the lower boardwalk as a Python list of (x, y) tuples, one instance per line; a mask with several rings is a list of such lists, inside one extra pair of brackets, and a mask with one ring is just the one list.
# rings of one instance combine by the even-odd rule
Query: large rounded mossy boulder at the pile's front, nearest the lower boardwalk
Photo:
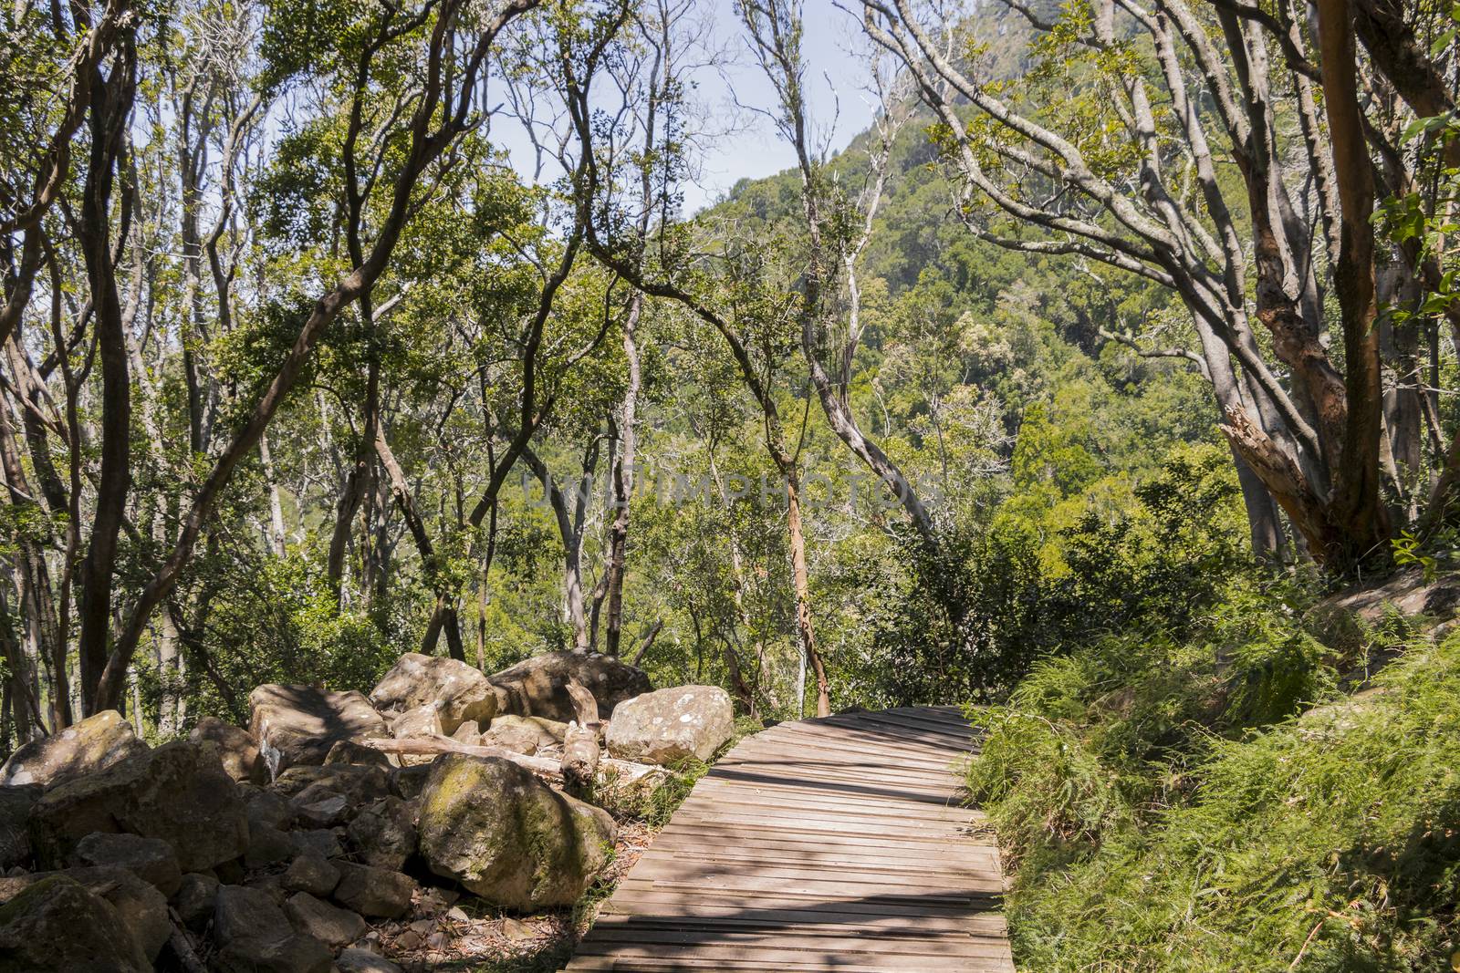
[(566, 906), (607, 864), (613, 818), (496, 757), (447, 754), (420, 804), (431, 871), (524, 912)]

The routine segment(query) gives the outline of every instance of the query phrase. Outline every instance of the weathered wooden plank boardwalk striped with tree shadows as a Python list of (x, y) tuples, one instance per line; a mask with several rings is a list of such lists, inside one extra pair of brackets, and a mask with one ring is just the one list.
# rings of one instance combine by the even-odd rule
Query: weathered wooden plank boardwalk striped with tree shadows
[(1003, 878), (959, 804), (953, 708), (781, 724), (742, 741), (619, 883), (565, 967), (1012, 972)]

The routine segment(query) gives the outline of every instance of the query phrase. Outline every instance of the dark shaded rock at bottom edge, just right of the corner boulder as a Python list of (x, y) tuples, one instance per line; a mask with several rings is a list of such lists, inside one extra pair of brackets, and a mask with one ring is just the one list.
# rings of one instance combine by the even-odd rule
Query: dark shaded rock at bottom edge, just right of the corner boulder
[(330, 948), (314, 937), (291, 932), (273, 897), (260, 888), (223, 885), (213, 907), (213, 937), (220, 947), (220, 973), (330, 973)]

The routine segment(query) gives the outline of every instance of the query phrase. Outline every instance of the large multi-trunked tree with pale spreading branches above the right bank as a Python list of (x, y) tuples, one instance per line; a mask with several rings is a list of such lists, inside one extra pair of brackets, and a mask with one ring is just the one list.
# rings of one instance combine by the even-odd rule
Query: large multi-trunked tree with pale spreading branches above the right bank
[[(1372, 193), (1356, 184), (1355, 168), (1368, 165), (1362, 134), (1345, 146), (1355, 153), (1340, 166), (1348, 171), (1334, 168), (1337, 140), (1358, 118), (1349, 104), (1352, 58), (1342, 60), (1342, 44), (1332, 54), (1324, 48), (1321, 71), (1315, 69), (1288, 4), (1261, 23), (1218, 4), (1215, 25), (1181, 0), (1149, 9), (1080, 6), (1056, 22), (1013, 9), (1038, 36), (1035, 76), (1045, 82), (1018, 104), (999, 82), (975, 77), (977, 57), (961, 55), (974, 22), (952, 13), (927, 19), (901, 1), (863, 6), (869, 35), (912, 73), (940, 123), (965, 187), (961, 209), (969, 226), (1003, 247), (1101, 261), (1175, 290), (1193, 315), (1225, 416), (1254, 546), (1276, 550), (1280, 543), (1254, 493), (1256, 478), (1317, 560), (1345, 570), (1381, 557), (1390, 525), (1378, 489), (1380, 362), (1365, 324), (1374, 319), (1372, 286), (1362, 283), (1372, 280), (1372, 242), (1365, 248), (1355, 236), (1372, 206)], [(1273, 47), (1282, 51), (1278, 70)], [(1275, 85), (1283, 76), (1296, 137), (1278, 124)], [(1333, 152), (1315, 108), (1315, 77), (1326, 93), (1334, 90), (1324, 99)], [(1075, 99), (1067, 96), (1072, 83), (1083, 92)], [(972, 117), (956, 99), (967, 99)], [(1314, 174), (1305, 207), (1289, 188), (1295, 152)], [(1218, 175), (1222, 159), (1234, 160), (1242, 177), (1241, 203), (1228, 200)], [(1188, 184), (1194, 191), (1186, 191)], [(1051, 193), (1054, 187), (1064, 191)], [(1002, 230), (986, 219), (986, 203), (1015, 228)], [(1242, 204), (1251, 260), (1248, 229), (1235, 216)], [(1314, 236), (1324, 245), (1311, 245)], [(1342, 373), (1323, 340), (1329, 260), (1343, 308)], [(1291, 387), (1263, 356), (1251, 318), (1272, 336)]]

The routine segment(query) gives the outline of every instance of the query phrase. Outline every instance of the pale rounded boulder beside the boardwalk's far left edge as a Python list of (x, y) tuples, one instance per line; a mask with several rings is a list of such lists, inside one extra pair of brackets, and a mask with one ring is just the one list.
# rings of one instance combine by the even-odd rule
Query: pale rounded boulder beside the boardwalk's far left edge
[(604, 743), (623, 760), (710, 760), (734, 734), (734, 706), (718, 686), (676, 686), (619, 703)]

